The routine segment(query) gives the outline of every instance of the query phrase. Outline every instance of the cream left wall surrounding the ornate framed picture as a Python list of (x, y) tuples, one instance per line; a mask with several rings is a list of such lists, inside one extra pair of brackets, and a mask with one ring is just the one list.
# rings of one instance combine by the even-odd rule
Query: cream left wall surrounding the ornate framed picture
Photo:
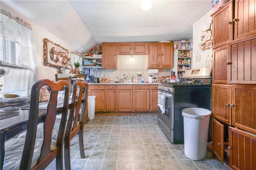
[(43, 64), (43, 39), (48, 38), (53, 43), (56, 43), (56, 44), (64, 47), (65, 49), (68, 49), (69, 57), (71, 56), (70, 55), (71, 51), (75, 51), (75, 49), (68, 43), (65, 43), (64, 41), (60, 40), (59, 38), (57, 38), (56, 36), (54, 36), (53, 34), (48, 32), (47, 30), (45, 30), (44, 28), (38, 26), (37, 24), (35, 24), (34, 22), (29, 20), (22, 14), (16, 12), (14, 9), (6, 6), (2, 2), (0, 2), (0, 6), (3, 10), (6, 10), (12, 16), (14, 16), (14, 17), (18, 16), (22, 20), (28, 22), (32, 27), (32, 30), (34, 32), (34, 38), (36, 40), (37, 56), (35, 56), (35, 57), (37, 57), (37, 59), (38, 59), (38, 73), (36, 73), (36, 79), (50, 79), (50, 80), (55, 81), (55, 74), (60, 73), (60, 72), (57, 67), (44, 66), (44, 64)]

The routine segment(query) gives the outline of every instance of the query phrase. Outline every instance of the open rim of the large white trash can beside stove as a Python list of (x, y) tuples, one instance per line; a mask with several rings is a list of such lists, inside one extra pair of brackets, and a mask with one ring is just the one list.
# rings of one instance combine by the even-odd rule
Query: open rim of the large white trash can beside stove
[(201, 119), (208, 117), (212, 114), (208, 109), (203, 109), (199, 107), (189, 107), (182, 110), (182, 116), (191, 119)]

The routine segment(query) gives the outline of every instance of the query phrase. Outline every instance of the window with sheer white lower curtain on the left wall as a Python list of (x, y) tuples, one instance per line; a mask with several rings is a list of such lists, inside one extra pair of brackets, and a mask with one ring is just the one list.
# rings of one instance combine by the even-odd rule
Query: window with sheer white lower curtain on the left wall
[(6, 41), (0, 37), (1, 97), (4, 93), (17, 94), (19, 96), (28, 96), (30, 94), (28, 78), (33, 75), (33, 72), (18, 61), (20, 54), (21, 47), (17, 42)]

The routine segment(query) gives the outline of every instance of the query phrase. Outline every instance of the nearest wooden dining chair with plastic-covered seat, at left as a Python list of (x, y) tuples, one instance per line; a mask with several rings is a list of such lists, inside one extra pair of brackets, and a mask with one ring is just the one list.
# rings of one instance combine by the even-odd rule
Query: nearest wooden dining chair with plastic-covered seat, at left
[[(43, 138), (36, 138), (39, 92), (43, 86), (46, 86), (48, 91), (50, 91), (50, 99), (44, 119)], [(54, 140), (51, 137), (57, 113), (58, 91), (61, 91), (63, 87), (65, 95), (62, 107), (62, 117), (60, 119), (57, 140)], [(7, 150), (5, 150), (4, 169), (13, 169), (12, 166), (17, 162), (20, 163), (20, 170), (45, 169), (55, 158), (56, 169), (63, 169), (63, 139), (67, 122), (68, 95), (69, 85), (65, 80), (60, 80), (54, 83), (51, 80), (42, 79), (34, 83), (31, 90), (26, 138), (12, 138), (11, 141), (8, 141), (9, 147), (6, 147)], [(14, 145), (16, 145), (16, 147), (14, 147)], [(18, 150), (21, 151), (19, 152)]]

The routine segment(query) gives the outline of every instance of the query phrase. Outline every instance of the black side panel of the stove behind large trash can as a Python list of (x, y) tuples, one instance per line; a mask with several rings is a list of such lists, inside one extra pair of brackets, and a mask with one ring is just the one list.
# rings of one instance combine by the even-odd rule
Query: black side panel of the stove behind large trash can
[[(188, 107), (199, 107), (212, 111), (212, 88), (210, 85), (175, 87), (174, 102), (174, 143), (183, 144), (184, 123), (182, 110)], [(208, 140), (209, 137), (211, 138), (211, 134), (208, 135)]]

